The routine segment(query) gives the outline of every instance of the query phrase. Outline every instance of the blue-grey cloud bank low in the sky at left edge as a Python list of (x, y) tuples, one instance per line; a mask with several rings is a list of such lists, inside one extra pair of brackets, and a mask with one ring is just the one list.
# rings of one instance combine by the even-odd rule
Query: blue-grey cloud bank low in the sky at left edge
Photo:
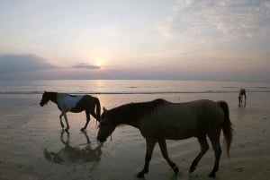
[(23, 73), (58, 68), (35, 55), (0, 55), (0, 73)]

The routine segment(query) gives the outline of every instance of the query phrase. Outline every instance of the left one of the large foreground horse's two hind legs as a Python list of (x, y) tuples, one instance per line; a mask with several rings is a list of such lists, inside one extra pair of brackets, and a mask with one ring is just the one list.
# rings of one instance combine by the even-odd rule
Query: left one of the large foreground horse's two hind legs
[(198, 136), (197, 139), (200, 142), (201, 151), (198, 154), (198, 156), (195, 159), (193, 159), (193, 163), (192, 163), (191, 167), (189, 167), (190, 173), (192, 173), (196, 169), (198, 163), (202, 159), (202, 156), (205, 154), (205, 152), (207, 150), (209, 150), (209, 145), (208, 145), (207, 140), (206, 140), (206, 134), (203, 134), (202, 136)]

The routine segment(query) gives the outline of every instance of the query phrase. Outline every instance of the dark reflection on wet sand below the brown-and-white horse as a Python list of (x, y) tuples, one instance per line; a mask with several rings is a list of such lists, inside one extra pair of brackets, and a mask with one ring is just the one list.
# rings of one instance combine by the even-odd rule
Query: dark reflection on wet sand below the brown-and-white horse
[(92, 149), (90, 146), (90, 140), (88, 135), (85, 134), (86, 145), (85, 148), (80, 148), (78, 146), (71, 146), (69, 144), (69, 133), (67, 133), (67, 140), (64, 140), (64, 133), (66, 131), (61, 131), (60, 141), (65, 145), (64, 148), (58, 150), (57, 152), (49, 151), (47, 149), (43, 150), (43, 154), (45, 159), (49, 160), (49, 162), (54, 163), (81, 163), (81, 162), (98, 162), (101, 159), (101, 146), (97, 146), (95, 149)]

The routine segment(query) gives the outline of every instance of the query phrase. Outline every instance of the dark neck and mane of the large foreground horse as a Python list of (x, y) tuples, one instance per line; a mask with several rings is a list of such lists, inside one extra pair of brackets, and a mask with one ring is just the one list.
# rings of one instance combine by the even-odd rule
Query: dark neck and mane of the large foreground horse
[(151, 114), (166, 102), (165, 99), (155, 99), (148, 102), (130, 103), (112, 108), (109, 113), (113, 124), (129, 124), (139, 121), (142, 116)]

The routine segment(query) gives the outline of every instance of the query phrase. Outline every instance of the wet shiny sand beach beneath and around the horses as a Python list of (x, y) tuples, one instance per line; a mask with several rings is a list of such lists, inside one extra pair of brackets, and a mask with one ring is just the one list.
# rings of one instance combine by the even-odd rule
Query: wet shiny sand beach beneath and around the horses
[[(225, 100), (234, 124), (230, 159), (224, 148), (220, 171), (214, 179), (270, 179), (270, 93), (247, 95), (247, 106), (238, 107), (237, 94), (100, 95), (102, 106), (112, 108), (130, 101), (165, 98), (174, 102), (193, 99)], [(95, 140), (97, 128), (91, 121), (85, 133), (85, 114), (68, 114), (69, 133), (62, 132), (58, 108), (49, 103), (39, 107), (40, 95), (0, 95), (0, 180), (58, 179), (137, 179), (144, 165), (145, 141), (139, 131), (121, 126), (112, 133), (112, 141), (102, 147)], [(94, 118), (92, 117), (92, 120)], [(223, 135), (221, 135), (223, 141)], [(162, 158), (156, 146), (144, 179), (185, 180), (207, 177), (213, 166), (210, 149), (196, 170), (188, 173), (200, 150), (196, 139), (167, 141), (168, 153), (179, 167), (179, 174)]]

